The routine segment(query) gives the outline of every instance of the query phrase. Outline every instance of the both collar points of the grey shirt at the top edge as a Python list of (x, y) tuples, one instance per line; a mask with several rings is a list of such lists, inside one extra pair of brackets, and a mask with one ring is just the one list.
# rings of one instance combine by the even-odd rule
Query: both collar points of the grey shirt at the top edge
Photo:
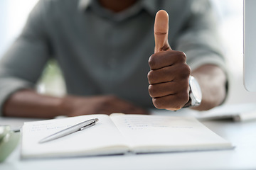
[[(79, 0), (78, 1), (78, 8), (82, 11), (87, 10), (90, 6), (92, 6), (93, 0)], [(157, 0), (140, 0), (140, 8), (144, 8), (149, 14), (152, 16), (156, 15), (158, 11), (157, 8)]]

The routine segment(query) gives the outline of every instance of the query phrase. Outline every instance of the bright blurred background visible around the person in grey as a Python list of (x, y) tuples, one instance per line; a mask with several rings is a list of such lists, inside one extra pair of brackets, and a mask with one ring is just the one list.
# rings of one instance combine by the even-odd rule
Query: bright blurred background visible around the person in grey
[[(18, 37), (26, 23), (28, 13), (38, 0), (0, 1), (0, 60)], [(225, 103), (255, 103), (256, 93), (243, 86), (243, 1), (211, 0), (219, 18), (220, 37), (230, 70), (230, 93)], [(53, 96), (65, 95), (65, 84), (58, 64), (49, 61), (37, 85), (38, 92)]]

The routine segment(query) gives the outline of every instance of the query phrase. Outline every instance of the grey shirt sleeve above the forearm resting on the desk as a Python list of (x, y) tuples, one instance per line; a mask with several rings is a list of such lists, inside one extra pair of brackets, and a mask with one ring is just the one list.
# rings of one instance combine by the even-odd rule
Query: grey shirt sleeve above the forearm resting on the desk
[[(19, 89), (33, 89), (50, 56), (43, 1), (33, 8), (26, 26), (0, 61), (0, 115), (7, 98)], [(12, 21), (15, 22), (15, 21)]]

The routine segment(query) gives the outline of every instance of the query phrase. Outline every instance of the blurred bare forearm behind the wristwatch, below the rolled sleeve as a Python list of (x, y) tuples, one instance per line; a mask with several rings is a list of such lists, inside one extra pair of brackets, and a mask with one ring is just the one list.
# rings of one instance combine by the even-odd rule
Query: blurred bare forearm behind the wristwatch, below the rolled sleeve
[(198, 111), (209, 110), (219, 106), (224, 101), (227, 77), (220, 67), (210, 64), (204, 65), (195, 69), (191, 75), (198, 80), (202, 91), (201, 105), (193, 109)]

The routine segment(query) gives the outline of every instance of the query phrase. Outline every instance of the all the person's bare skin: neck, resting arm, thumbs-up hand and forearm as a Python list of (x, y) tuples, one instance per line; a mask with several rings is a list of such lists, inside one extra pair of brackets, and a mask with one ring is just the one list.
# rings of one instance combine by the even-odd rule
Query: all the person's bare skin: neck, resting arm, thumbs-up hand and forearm
[[(134, 4), (134, 0), (100, 0), (100, 4), (114, 12), (122, 11)], [(168, 43), (168, 21), (166, 11), (156, 14), (154, 26), (155, 53), (149, 57), (151, 68), (148, 74), (149, 94), (156, 108), (176, 111), (188, 102), (188, 77), (192, 74), (201, 85), (203, 100), (194, 109), (208, 110), (218, 106), (225, 98), (225, 74), (214, 65), (204, 65), (191, 73), (183, 52), (171, 50)], [(216, 90), (218, 89), (218, 90)], [(147, 114), (143, 108), (116, 96), (65, 96), (56, 98), (43, 96), (36, 91), (16, 91), (4, 103), (3, 115), (30, 118), (54, 118), (58, 115), (76, 116), (94, 113)]]

